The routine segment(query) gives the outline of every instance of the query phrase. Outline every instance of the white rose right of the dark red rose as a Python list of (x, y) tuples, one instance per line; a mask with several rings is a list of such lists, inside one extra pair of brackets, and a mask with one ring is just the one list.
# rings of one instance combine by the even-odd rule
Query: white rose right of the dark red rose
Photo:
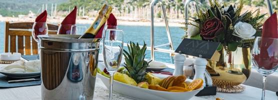
[(253, 36), (255, 33), (256, 29), (254, 29), (251, 24), (239, 21), (234, 25), (232, 34), (242, 39), (252, 39), (255, 38), (255, 36)]

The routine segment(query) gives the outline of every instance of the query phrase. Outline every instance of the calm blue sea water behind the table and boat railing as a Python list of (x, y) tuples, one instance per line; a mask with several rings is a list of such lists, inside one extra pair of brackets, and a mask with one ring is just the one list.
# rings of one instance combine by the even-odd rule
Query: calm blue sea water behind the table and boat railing
[[(89, 26), (89, 24), (78, 24), (82, 26)], [(124, 31), (124, 42), (133, 41), (139, 44), (145, 43), (150, 46), (150, 26), (136, 26), (136, 25), (119, 25), (119, 28)], [(181, 37), (184, 35), (184, 31), (176, 26), (169, 27), (171, 32), (171, 38), (174, 48), (176, 48), (181, 42)], [(160, 45), (167, 43), (167, 34), (165, 26), (154, 27), (154, 45)], [(168, 48), (168, 47), (162, 47)], [(4, 51), (4, 22), (0, 22), (0, 52)], [(155, 52), (155, 60), (163, 62), (171, 62), (169, 53)], [(150, 58), (150, 51), (146, 51), (146, 58)]]

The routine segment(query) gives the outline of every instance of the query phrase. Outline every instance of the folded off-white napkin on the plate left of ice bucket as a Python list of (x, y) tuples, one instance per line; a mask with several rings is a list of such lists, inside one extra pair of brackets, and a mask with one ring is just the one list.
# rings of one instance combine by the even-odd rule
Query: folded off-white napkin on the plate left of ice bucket
[(1, 69), (4, 72), (37, 72), (40, 71), (40, 61), (15, 61)]

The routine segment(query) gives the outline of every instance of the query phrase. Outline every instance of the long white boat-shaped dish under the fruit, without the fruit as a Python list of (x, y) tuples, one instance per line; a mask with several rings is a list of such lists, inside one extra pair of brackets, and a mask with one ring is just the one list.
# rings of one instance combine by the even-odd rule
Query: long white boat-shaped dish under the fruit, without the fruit
[[(97, 77), (101, 79), (101, 81), (105, 84), (107, 88), (109, 88), (109, 78), (99, 73), (97, 73)], [(191, 80), (186, 79), (186, 81), (191, 81)], [(201, 89), (203, 89), (203, 87), (192, 91), (186, 91), (186, 92), (168, 92), (168, 91), (159, 91), (159, 90), (141, 88), (141, 87), (125, 84), (116, 80), (114, 80), (113, 82), (113, 91), (125, 95), (127, 97), (131, 97), (135, 99), (145, 99), (145, 100), (190, 99), (195, 94), (197, 94)]]

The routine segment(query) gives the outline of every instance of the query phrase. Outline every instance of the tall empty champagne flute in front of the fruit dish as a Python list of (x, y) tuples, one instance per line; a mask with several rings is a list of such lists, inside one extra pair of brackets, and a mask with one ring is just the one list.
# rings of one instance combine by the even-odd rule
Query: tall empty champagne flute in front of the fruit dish
[(123, 30), (117, 26), (106, 26), (103, 32), (103, 59), (110, 75), (109, 99), (112, 99), (113, 74), (121, 62), (123, 46)]

